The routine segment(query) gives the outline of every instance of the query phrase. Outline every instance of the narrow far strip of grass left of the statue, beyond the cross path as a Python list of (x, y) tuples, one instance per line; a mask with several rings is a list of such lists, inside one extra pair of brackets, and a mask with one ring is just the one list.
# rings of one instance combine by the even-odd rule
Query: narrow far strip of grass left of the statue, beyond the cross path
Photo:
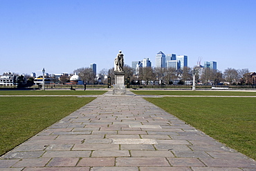
[(1, 90), (0, 95), (100, 95), (106, 90)]

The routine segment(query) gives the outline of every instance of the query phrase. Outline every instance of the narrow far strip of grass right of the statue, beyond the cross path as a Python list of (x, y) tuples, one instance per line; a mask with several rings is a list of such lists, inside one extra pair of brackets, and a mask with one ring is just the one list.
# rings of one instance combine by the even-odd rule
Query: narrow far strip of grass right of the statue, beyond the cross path
[(233, 91), (168, 91), (168, 90), (133, 90), (140, 95), (187, 95), (187, 96), (256, 96), (256, 92)]

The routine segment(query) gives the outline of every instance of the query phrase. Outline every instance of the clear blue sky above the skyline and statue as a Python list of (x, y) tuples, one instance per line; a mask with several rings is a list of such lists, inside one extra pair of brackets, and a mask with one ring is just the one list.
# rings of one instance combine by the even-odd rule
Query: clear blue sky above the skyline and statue
[(256, 72), (255, 0), (0, 0), (0, 74), (112, 68), (156, 54)]

